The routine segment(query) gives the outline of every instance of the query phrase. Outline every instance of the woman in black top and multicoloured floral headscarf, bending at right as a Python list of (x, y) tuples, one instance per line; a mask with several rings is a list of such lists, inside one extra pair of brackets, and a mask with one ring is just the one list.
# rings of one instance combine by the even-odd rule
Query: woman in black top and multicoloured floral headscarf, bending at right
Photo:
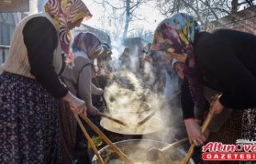
[(214, 102), (212, 113), (221, 113), (224, 107), (246, 109), (242, 137), (255, 138), (256, 126), (248, 128), (256, 123), (255, 43), (256, 37), (250, 33), (230, 29), (200, 32), (200, 25), (187, 14), (174, 14), (158, 25), (151, 49), (185, 61), (182, 110), (190, 143), (201, 145), (206, 141), (198, 124), (191, 119), (194, 104), (205, 107), (203, 85), (222, 93)]

